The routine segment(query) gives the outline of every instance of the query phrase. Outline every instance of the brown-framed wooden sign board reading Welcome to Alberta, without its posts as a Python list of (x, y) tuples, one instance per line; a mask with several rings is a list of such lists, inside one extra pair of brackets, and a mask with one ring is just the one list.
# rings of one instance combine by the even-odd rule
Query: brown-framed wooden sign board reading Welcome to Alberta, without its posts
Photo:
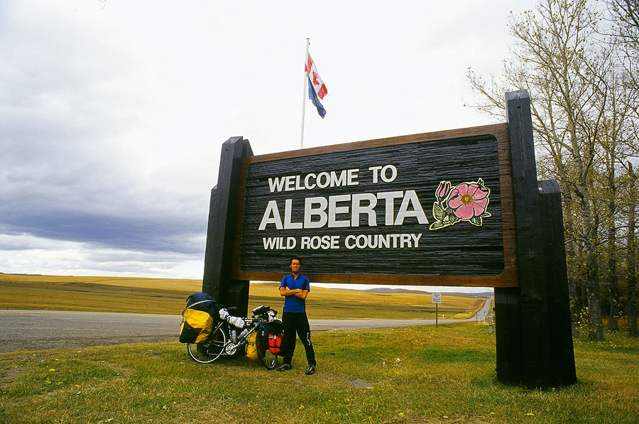
[(514, 287), (512, 191), (506, 124), (242, 158), (232, 278)]

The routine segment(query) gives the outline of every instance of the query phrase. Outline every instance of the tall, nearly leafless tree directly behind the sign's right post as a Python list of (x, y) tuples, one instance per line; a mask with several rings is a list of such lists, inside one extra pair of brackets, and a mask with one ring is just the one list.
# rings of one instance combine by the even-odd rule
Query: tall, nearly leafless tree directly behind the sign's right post
[[(618, 50), (600, 31), (602, 16), (586, 0), (541, 0), (536, 13), (510, 17), (515, 43), (501, 77), (468, 73), (474, 107), (484, 112), (503, 114), (510, 89), (531, 95), (540, 173), (562, 190), (574, 322), (586, 306), (590, 339), (603, 338), (600, 257), (618, 305), (616, 175), (636, 144), (626, 134), (636, 109), (623, 97)], [(609, 315), (616, 320), (618, 310)]]

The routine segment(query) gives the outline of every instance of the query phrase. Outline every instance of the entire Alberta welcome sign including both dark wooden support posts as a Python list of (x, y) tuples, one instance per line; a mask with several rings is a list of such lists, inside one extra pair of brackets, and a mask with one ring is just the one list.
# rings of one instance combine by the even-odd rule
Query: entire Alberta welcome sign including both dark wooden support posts
[(495, 288), (497, 379), (577, 381), (561, 198), (537, 183), (528, 93), (507, 124), (253, 156), (222, 146), (202, 290), (246, 314), (290, 256), (313, 282)]

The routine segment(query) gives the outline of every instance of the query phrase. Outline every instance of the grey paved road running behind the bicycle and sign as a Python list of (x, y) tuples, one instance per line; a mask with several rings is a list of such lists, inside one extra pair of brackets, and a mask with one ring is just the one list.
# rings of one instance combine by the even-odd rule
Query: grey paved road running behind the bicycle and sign
[[(490, 305), (491, 300), (486, 300), (481, 312), (488, 312)], [(439, 323), (461, 321), (439, 320)], [(181, 315), (0, 310), (0, 353), (177, 340), (180, 322)], [(310, 320), (315, 331), (412, 325), (435, 325), (435, 320)]]

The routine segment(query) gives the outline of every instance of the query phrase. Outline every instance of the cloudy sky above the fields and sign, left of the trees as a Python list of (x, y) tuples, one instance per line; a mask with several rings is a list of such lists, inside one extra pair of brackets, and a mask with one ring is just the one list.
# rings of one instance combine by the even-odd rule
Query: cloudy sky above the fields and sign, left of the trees
[[(493, 124), (529, 0), (0, 0), (0, 272), (202, 278), (221, 146)], [(328, 95), (305, 99), (306, 38)], [(285, 271), (285, 270), (283, 270)]]

